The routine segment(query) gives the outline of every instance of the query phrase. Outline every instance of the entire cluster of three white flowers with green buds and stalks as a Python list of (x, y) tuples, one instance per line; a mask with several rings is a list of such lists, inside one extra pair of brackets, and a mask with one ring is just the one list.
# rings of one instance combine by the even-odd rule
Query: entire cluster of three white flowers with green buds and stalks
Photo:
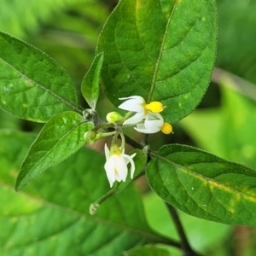
[[(116, 181), (125, 182), (128, 175), (128, 165), (131, 165), (131, 178), (135, 172), (133, 158), (136, 154), (125, 154), (125, 136), (122, 128), (136, 125), (134, 129), (142, 133), (149, 134), (158, 131), (166, 134), (172, 133), (172, 125), (166, 123), (160, 114), (164, 111), (164, 106), (161, 102), (146, 103), (141, 96), (130, 96), (120, 98), (119, 100), (125, 100), (125, 102), (119, 105), (120, 109), (128, 111), (125, 117), (117, 112), (110, 112), (107, 115), (108, 124), (97, 125), (92, 131), (84, 134), (85, 142), (90, 144), (102, 137), (113, 136), (110, 148), (105, 144), (106, 163), (104, 169), (107, 173), (110, 187), (113, 187), (113, 183)], [(98, 132), (102, 128), (105, 130), (113, 128), (115, 131)], [(120, 147), (117, 143), (119, 136), (122, 141)]]

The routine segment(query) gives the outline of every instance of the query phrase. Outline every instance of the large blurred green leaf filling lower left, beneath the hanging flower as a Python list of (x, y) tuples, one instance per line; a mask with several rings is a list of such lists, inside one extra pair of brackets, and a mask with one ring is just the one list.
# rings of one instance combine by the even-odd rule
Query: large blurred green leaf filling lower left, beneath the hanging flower
[(133, 186), (89, 215), (90, 203), (108, 191), (109, 183), (105, 158), (88, 148), (15, 193), (15, 175), (34, 138), (0, 131), (1, 255), (118, 255), (149, 242), (169, 241), (148, 228)]

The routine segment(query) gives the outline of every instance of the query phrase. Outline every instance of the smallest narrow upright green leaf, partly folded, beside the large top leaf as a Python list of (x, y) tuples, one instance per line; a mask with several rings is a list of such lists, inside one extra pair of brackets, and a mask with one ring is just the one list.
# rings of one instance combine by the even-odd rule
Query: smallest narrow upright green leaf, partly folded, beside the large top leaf
[(100, 93), (103, 54), (96, 55), (82, 82), (82, 94), (90, 108), (95, 109)]

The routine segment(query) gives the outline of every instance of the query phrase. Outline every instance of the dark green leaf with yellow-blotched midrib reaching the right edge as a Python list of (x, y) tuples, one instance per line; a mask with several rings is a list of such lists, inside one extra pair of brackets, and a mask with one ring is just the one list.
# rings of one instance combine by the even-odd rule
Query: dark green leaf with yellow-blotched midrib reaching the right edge
[(224, 224), (256, 224), (256, 172), (198, 148), (168, 145), (149, 162), (156, 194), (195, 217)]

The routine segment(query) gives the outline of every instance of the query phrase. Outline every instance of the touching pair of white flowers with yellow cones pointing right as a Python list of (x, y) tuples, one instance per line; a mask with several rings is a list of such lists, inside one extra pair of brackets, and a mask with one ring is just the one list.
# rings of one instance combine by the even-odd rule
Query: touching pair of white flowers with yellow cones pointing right
[[(131, 96), (126, 98), (119, 98), (119, 100), (126, 100), (121, 105), (120, 109), (131, 111), (135, 113), (131, 118), (126, 119), (123, 125), (137, 125), (136, 131), (142, 133), (155, 133), (162, 131), (165, 134), (172, 132), (172, 125), (164, 122), (160, 112), (164, 110), (161, 102), (146, 103), (142, 96)], [(144, 120), (143, 123), (141, 123)]]

